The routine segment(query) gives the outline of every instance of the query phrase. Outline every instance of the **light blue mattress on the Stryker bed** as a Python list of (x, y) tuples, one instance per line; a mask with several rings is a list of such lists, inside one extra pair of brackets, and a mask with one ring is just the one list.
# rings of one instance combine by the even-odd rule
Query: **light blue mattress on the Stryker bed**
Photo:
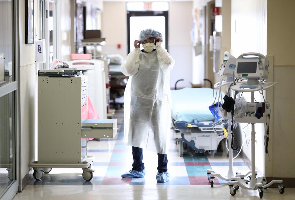
[[(214, 90), (216, 95), (216, 90)], [(225, 94), (222, 93), (222, 97)], [(177, 122), (214, 121), (209, 110), (213, 103), (213, 89), (211, 88), (184, 88), (171, 91), (172, 118)], [(217, 97), (218, 99), (218, 97)], [(216, 99), (216, 101), (217, 101)]]

